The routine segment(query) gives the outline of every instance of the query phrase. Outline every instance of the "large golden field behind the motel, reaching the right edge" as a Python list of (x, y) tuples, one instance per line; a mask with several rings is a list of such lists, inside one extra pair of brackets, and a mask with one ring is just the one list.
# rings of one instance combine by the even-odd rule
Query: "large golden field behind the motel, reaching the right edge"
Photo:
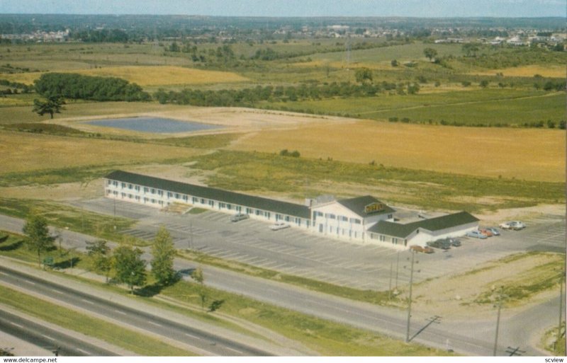
[(277, 153), (298, 150), (308, 158), (384, 166), (565, 181), (565, 132), (405, 125), (361, 121), (266, 130), (242, 137), (231, 149)]

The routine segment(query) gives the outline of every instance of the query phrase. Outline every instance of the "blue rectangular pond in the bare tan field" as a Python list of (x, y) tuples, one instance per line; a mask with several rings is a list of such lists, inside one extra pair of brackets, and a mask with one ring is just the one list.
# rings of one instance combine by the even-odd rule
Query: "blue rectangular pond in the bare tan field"
[(154, 132), (159, 134), (170, 134), (176, 132), (202, 131), (206, 129), (218, 129), (218, 125), (201, 124), (199, 122), (184, 122), (161, 117), (131, 117), (105, 119), (86, 122), (89, 125), (115, 127), (117, 129), (129, 129), (140, 132)]

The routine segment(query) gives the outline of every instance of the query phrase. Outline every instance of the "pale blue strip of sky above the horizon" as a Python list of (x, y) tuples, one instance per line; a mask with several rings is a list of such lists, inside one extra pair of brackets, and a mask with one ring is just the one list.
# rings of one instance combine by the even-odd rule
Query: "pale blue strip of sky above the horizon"
[(0, 13), (566, 17), (567, 0), (0, 0)]

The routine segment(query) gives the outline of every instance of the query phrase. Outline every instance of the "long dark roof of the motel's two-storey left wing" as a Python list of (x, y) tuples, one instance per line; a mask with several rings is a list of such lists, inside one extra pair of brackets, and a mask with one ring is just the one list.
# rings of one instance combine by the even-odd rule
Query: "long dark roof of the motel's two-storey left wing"
[(293, 217), (310, 219), (311, 216), (309, 207), (306, 207), (302, 204), (280, 202), (278, 200), (271, 200), (268, 198), (254, 197), (252, 195), (245, 195), (237, 192), (229, 192), (228, 190), (208, 188), (201, 185), (180, 183), (173, 180), (128, 173), (127, 171), (113, 171), (112, 173), (106, 175), (105, 178), (118, 180), (124, 183), (131, 183), (145, 187), (161, 189), (167, 192), (176, 192), (180, 194), (191, 195), (193, 197), (218, 200), (220, 202), (242, 205), (244, 207), (262, 209), (264, 211), (286, 214)]

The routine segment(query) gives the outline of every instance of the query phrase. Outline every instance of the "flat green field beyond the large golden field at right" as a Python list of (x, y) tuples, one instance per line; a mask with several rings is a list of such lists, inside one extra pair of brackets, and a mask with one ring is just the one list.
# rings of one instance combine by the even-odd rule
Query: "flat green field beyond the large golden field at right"
[(565, 119), (563, 93), (528, 90), (486, 89), (423, 93), (417, 95), (380, 95), (373, 98), (334, 98), (287, 103), (266, 103), (267, 107), (307, 113), (350, 115), (371, 120), (444, 122), (461, 125), (523, 125), (538, 121)]

